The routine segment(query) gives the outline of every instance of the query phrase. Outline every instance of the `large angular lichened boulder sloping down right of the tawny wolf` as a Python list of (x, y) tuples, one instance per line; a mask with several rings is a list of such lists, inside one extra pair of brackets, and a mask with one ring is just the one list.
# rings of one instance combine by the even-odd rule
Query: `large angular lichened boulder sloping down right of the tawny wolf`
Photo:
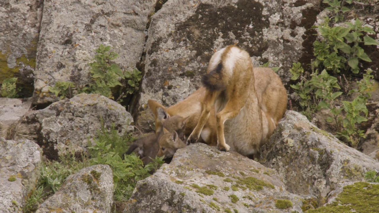
[(379, 171), (379, 163), (373, 158), (291, 110), (262, 147), (260, 162), (283, 177), (288, 191), (317, 196), (320, 202), (337, 183), (362, 181), (367, 171)]

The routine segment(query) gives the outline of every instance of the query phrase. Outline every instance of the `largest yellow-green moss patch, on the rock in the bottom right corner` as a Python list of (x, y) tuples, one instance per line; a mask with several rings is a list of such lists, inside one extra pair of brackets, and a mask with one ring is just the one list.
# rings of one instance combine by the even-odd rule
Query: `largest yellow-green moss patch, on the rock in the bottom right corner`
[(310, 209), (306, 213), (379, 212), (379, 185), (356, 182), (343, 187), (343, 191), (332, 204)]

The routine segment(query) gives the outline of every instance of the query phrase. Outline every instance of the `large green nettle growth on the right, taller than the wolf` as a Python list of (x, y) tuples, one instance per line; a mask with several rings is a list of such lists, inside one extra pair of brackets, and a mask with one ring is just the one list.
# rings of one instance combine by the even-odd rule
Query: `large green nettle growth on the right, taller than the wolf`
[[(324, 0), (332, 15), (325, 19), (318, 29), (319, 39), (313, 42), (313, 53), (316, 57), (311, 63), (312, 73), (304, 72), (300, 63), (293, 63), (290, 69), (291, 80), (296, 80), (294, 96), (302, 109), (302, 113), (311, 118), (313, 113), (321, 109), (329, 109), (327, 122), (334, 122), (336, 136), (350, 146), (356, 147), (364, 131), (360, 124), (367, 121), (366, 103), (370, 99), (372, 70), (362, 70), (361, 61), (371, 62), (362, 45), (379, 45), (368, 34), (374, 31), (359, 19), (344, 22), (335, 26), (334, 22), (343, 20), (343, 14), (350, 9), (345, 7), (352, 0)], [(315, 70), (316, 69), (316, 70)], [(314, 71), (315, 70), (315, 71)], [(318, 74), (318, 70), (322, 70)], [(356, 88), (350, 89), (345, 74), (348, 76), (362, 73), (362, 80), (356, 82)], [(341, 80), (341, 73), (345, 83)], [(334, 76), (332, 76), (334, 75)], [(336, 78), (337, 76), (338, 78)], [(354, 94), (354, 98), (352, 97)], [(351, 100), (351, 101), (348, 101)]]

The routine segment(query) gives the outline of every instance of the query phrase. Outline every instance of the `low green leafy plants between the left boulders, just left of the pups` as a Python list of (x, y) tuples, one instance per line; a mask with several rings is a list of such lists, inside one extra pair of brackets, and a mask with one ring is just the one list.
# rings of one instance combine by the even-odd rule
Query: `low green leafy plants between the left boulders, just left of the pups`
[[(131, 135), (120, 136), (114, 125), (108, 131), (106, 128), (98, 132), (94, 145), (88, 147), (88, 154), (82, 155), (78, 161), (74, 151), (60, 158), (60, 161), (44, 161), (36, 190), (27, 200), (23, 212), (30, 212), (49, 196), (60, 189), (65, 179), (75, 172), (90, 165), (106, 164), (113, 172), (114, 196), (118, 201), (128, 200), (138, 180), (150, 176), (149, 172), (159, 168), (163, 161), (155, 158), (152, 163), (142, 167), (142, 160), (136, 155), (121, 155), (132, 143)], [(90, 143), (90, 142), (89, 142)]]

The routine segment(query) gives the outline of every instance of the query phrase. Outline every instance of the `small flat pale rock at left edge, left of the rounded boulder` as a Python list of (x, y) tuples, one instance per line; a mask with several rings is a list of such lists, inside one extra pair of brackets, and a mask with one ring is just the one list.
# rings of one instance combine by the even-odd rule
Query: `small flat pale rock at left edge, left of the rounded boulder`
[(6, 138), (9, 126), (30, 110), (31, 102), (31, 98), (0, 98), (0, 138)]

